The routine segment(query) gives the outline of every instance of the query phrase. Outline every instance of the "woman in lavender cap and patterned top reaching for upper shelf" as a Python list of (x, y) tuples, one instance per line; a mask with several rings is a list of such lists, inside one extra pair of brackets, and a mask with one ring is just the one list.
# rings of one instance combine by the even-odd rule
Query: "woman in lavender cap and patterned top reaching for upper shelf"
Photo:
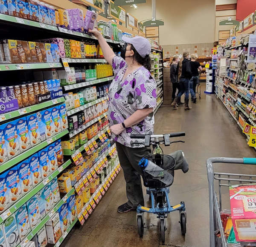
[(114, 79), (109, 88), (108, 119), (116, 143), (120, 165), (126, 182), (128, 202), (120, 205), (119, 213), (136, 210), (144, 205), (138, 163), (151, 153), (149, 147), (138, 144), (142, 139), (131, 139), (131, 134), (152, 134), (156, 106), (156, 82), (151, 77), (151, 45), (143, 37), (122, 37), (125, 46), (121, 57), (116, 57), (108, 43), (95, 28), (90, 30), (99, 41), (105, 60), (112, 65)]

